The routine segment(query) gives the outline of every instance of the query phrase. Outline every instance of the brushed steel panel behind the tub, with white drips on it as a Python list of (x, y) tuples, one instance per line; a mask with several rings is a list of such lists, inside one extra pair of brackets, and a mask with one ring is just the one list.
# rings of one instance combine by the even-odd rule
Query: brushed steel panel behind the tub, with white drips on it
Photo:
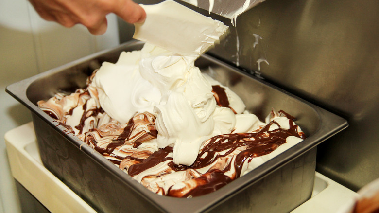
[[(182, 3), (209, 15), (204, 2)], [(234, 26), (211, 16), (230, 34), (209, 54), (348, 120), (318, 147), (316, 171), (352, 190), (379, 177), (379, 1), (266, 0)], [(132, 27), (119, 22), (121, 42)]]

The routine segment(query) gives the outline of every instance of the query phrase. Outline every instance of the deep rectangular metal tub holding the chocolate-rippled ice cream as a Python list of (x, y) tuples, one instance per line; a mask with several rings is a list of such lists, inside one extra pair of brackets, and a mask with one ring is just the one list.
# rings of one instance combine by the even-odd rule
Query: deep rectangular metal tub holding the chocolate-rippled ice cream
[[(307, 139), (208, 195), (174, 198), (156, 195), (55, 122), (36, 103), (58, 91), (86, 86), (104, 61), (115, 63), (122, 51), (140, 50), (131, 41), (43, 72), (7, 87), (33, 115), (41, 159), (98, 212), (290, 212), (310, 198), (316, 146), (347, 127), (345, 119), (301, 100), (208, 55), (196, 61), (202, 71), (236, 92), (261, 120), (274, 108), (296, 117)], [(54, 193), (54, 192), (52, 192)]]

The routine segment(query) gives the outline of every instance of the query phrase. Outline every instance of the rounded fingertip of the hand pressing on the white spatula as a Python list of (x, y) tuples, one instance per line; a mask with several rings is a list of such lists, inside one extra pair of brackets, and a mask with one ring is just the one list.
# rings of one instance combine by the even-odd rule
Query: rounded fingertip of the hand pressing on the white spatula
[(131, 24), (141, 23), (146, 19), (145, 10), (132, 0), (119, 0), (114, 13)]

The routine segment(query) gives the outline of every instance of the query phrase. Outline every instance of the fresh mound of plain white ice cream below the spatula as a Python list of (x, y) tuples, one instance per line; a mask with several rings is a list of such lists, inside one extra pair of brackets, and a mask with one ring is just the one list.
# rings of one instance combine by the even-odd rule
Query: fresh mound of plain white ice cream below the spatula
[[(136, 112), (155, 115), (158, 147), (173, 146), (176, 164), (191, 165), (212, 136), (258, 125), (255, 115), (236, 116), (230, 108), (216, 105), (212, 84), (218, 82), (204, 76), (194, 60), (145, 44), (141, 51), (122, 53), (116, 64), (104, 62), (92, 82), (100, 105), (118, 122), (127, 123)], [(225, 89), (230, 106), (242, 113), (241, 99)]]

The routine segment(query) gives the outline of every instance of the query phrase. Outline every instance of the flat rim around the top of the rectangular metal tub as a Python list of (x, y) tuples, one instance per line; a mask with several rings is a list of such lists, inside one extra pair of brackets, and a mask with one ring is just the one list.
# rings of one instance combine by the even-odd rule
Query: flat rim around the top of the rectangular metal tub
[[(296, 157), (300, 156), (301, 154), (309, 151), (310, 149), (314, 148), (317, 146), (319, 143), (327, 140), (337, 132), (345, 129), (348, 124), (347, 121), (344, 118), (341, 118), (340, 116), (337, 116), (319, 106), (316, 106), (314, 104), (311, 104), (310, 102), (301, 99), (292, 93), (289, 93), (283, 89), (280, 89), (276, 87), (275, 85), (272, 85), (268, 82), (265, 82), (262, 79), (259, 79), (253, 75), (250, 75), (244, 71), (239, 70), (238, 68), (232, 67), (224, 62), (221, 62), (209, 55), (203, 55), (203, 57), (206, 57), (209, 60), (217, 61), (217, 63), (221, 63), (224, 66), (231, 67), (234, 70), (237, 70), (241, 72), (242, 74), (253, 78), (254, 80), (257, 80), (260, 83), (266, 84), (269, 87), (272, 87), (273, 89), (276, 89), (282, 93), (285, 93), (286, 95), (291, 96), (292, 98), (295, 98), (308, 106), (310, 106), (313, 110), (316, 111), (317, 115), (319, 116), (320, 119), (320, 125), (318, 126), (318, 129), (314, 132), (314, 134), (310, 135), (307, 139), (305, 139), (303, 142), (298, 143), (297, 145), (294, 145), (290, 149), (286, 150), (285, 152), (281, 153), (279, 156), (276, 158), (267, 161), (263, 165), (259, 166), (256, 168), (254, 173), (249, 173), (246, 174), (245, 176), (239, 177), (238, 179), (232, 181), (228, 185), (222, 187), (221, 189), (217, 190), (216, 192), (213, 192), (208, 195), (202, 195), (199, 197), (193, 197), (190, 199), (185, 199), (185, 198), (175, 198), (175, 197), (168, 197), (168, 196), (161, 196), (161, 195), (156, 195), (155, 193), (147, 190), (145, 187), (143, 187), (141, 184), (139, 184), (137, 181), (132, 179), (132, 177), (128, 176), (126, 173), (124, 173), (122, 170), (119, 168), (113, 166), (113, 164), (103, 158), (103, 156), (97, 152), (93, 152), (93, 149), (90, 148), (89, 146), (83, 145), (81, 146), (84, 142), (81, 141), (79, 138), (76, 136), (73, 136), (72, 134), (67, 134), (64, 132), (66, 128), (64, 128), (61, 125), (56, 125), (57, 123), (46, 113), (43, 113), (41, 109), (39, 109), (37, 106), (35, 106), (26, 96), (26, 90), (29, 87), (30, 84), (34, 82), (34, 80), (40, 78), (41, 76), (47, 75), (47, 74), (52, 74), (54, 72), (59, 72), (63, 69), (67, 69), (71, 66), (74, 66), (76, 64), (82, 63), (88, 59), (98, 57), (100, 55), (115, 51), (115, 50), (121, 50), (129, 45), (133, 44), (139, 44), (142, 42), (139, 41), (130, 41), (126, 42), (124, 44), (119, 45), (116, 48), (110, 49), (110, 50), (104, 50), (99, 53), (94, 53), (91, 55), (88, 55), (84, 58), (75, 60), (73, 62), (70, 62), (68, 64), (62, 65), (60, 67), (54, 68), (52, 70), (46, 71), (39, 73), (37, 75), (34, 75), (30, 78), (27, 78), (25, 80), (19, 81), (17, 83), (11, 84), (8, 87), (6, 87), (6, 92), (9, 93), (11, 96), (13, 96), (17, 101), (28, 107), (32, 113), (35, 113), (38, 115), (40, 118), (42, 118), (44, 121), (46, 121), (48, 124), (50, 124), (52, 127), (56, 127), (59, 132), (64, 136), (69, 138), (69, 141), (72, 142), (75, 146), (80, 147), (89, 157), (95, 158), (96, 161), (102, 165), (104, 168), (110, 170), (115, 174), (116, 177), (121, 178), (123, 182), (131, 186), (138, 194), (144, 196), (149, 200), (152, 204), (154, 204), (158, 209), (165, 211), (165, 212), (175, 212), (177, 209), (171, 209), (170, 206), (174, 205), (165, 205), (165, 204), (170, 204), (172, 202), (179, 203), (179, 205), (190, 205), (193, 207), (199, 206), (199, 205), (191, 205), (190, 203), (196, 203), (199, 204), (201, 208), (193, 208), (190, 211), (191, 212), (202, 212), (209, 210), (210, 208), (215, 207), (220, 203), (221, 200), (223, 202), (234, 195), (234, 193), (243, 190), (244, 188), (254, 184), (257, 182), (259, 179), (269, 175), (270, 173), (274, 172), (276, 169), (280, 168), (282, 165), (286, 164), (287, 162), (295, 159)], [(217, 199), (214, 199), (214, 196), (217, 197)], [(162, 205), (163, 204), (163, 205)]]

